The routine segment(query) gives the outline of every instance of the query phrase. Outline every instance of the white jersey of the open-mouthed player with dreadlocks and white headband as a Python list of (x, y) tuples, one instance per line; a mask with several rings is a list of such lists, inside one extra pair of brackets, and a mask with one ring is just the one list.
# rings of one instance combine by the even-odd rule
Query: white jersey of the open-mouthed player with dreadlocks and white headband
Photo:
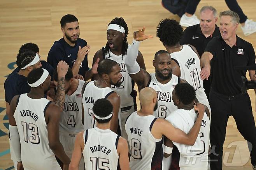
[[(128, 49), (129, 48), (130, 48), (130, 45), (128, 45)], [(136, 104), (135, 102), (136, 102), (136, 95), (137, 95), (137, 92), (133, 90), (134, 81), (128, 74), (126, 65), (124, 64), (126, 56), (123, 57), (122, 54), (117, 56), (116, 54), (113, 54), (111, 51), (109, 51), (107, 54), (105, 54), (104, 57), (105, 59), (111, 59), (116, 61), (121, 68), (120, 72), (122, 74), (122, 80), (121, 80), (122, 83), (120, 87), (115, 87), (114, 85), (111, 85), (111, 89), (117, 92), (117, 94), (119, 94), (120, 96), (120, 99), (121, 99), (120, 111), (119, 111), (120, 114), (125, 113), (129, 111), (134, 104)]]

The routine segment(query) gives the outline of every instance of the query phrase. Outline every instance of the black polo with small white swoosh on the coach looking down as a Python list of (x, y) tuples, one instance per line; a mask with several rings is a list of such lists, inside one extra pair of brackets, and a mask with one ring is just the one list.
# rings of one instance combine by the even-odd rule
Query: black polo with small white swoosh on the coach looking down
[(210, 40), (212, 40), (212, 38), (219, 35), (220, 35), (220, 32), (219, 32), (219, 27), (217, 27), (217, 25), (215, 25), (215, 29), (212, 35), (205, 37), (200, 28), (200, 24), (196, 24), (193, 26), (189, 26), (184, 30), (183, 36), (180, 40), (180, 44), (193, 45), (196, 48), (199, 56), (202, 56), (205, 50), (205, 47), (210, 42)]

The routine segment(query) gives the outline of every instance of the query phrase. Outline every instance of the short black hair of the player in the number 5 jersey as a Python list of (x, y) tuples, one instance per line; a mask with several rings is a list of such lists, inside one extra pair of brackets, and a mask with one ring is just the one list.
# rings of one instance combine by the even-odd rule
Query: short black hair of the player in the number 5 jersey
[(189, 83), (175, 85), (175, 95), (183, 104), (190, 104), (196, 99), (196, 91)]

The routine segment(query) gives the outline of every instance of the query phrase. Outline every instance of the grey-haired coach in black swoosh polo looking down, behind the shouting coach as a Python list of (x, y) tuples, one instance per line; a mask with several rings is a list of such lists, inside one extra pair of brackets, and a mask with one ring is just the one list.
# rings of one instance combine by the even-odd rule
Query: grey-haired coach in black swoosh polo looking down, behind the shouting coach
[[(217, 10), (211, 6), (204, 6), (200, 10), (200, 24), (189, 26), (183, 32), (180, 44), (193, 45), (199, 56), (202, 56), (205, 47), (212, 38), (219, 36), (219, 27), (217, 27)], [(210, 80), (203, 80), (203, 88), (209, 99)]]

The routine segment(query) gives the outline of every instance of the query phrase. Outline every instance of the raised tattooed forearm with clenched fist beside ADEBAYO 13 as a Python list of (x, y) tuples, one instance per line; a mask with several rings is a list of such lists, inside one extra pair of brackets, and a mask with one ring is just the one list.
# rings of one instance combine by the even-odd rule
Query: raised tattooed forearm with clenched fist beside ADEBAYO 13
[(60, 61), (57, 66), (58, 87), (54, 97), (54, 102), (62, 110), (65, 101), (65, 76), (68, 71), (68, 64), (65, 61)]

